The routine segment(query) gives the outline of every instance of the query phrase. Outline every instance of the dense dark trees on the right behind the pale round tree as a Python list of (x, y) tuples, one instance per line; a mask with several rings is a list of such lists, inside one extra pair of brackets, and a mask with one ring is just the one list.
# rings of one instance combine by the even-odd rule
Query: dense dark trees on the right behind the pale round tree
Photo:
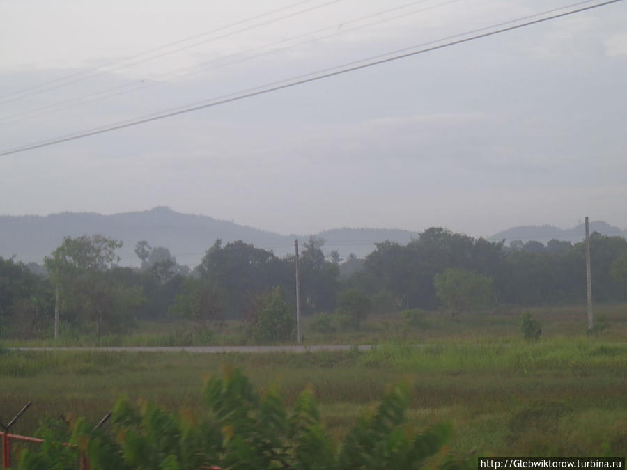
[[(594, 299), (625, 301), (627, 276), (621, 260), (627, 256), (627, 240), (593, 233), (590, 245)], [(506, 247), (441, 228), (425, 230), (405, 246), (377, 244), (353, 285), (366, 292), (392, 292), (407, 308), (433, 308), (440, 304), (433, 281), (449, 268), (488, 276), (503, 304), (572, 304), (586, 298), (583, 242), (573, 246), (550, 240), (547, 246), (527, 242)]]

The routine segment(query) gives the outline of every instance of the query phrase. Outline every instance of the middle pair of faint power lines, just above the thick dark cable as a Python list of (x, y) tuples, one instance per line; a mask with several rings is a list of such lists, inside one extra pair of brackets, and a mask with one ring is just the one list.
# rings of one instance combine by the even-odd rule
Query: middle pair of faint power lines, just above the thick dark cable
[[(368, 28), (370, 26), (374, 26), (376, 24), (382, 24), (384, 22), (393, 21), (394, 19), (398, 19), (398, 18), (401, 18), (401, 17), (402, 18), (406, 18), (406, 17), (408, 17), (410, 15), (415, 15), (417, 13), (422, 13), (422, 12), (424, 12), (426, 10), (432, 10), (433, 8), (439, 8), (441, 6), (446, 6), (446, 5), (449, 5), (450, 3), (456, 3), (456, 2), (461, 1), (461, 0), (444, 1), (442, 3), (437, 3), (435, 5), (428, 6), (426, 8), (421, 8), (419, 10), (414, 10), (414, 11), (411, 11), (411, 12), (408, 12), (408, 13), (403, 13), (401, 15), (396, 15), (394, 17), (381, 19), (379, 21), (371, 22), (369, 24), (355, 26), (354, 28), (342, 28), (341, 31), (335, 31), (334, 33), (327, 34), (326, 36), (316, 37), (314, 39), (303, 41), (303, 42), (297, 42), (296, 44), (288, 45), (286, 47), (280, 47), (280, 48), (277, 48), (277, 49), (271, 49), (270, 51), (263, 52), (261, 54), (256, 54), (256, 55), (252, 55), (252, 56), (244, 56), (245, 54), (249, 54), (250, 52), (267, 49), (268, 47), (272, 47), (274, 45), (283, 44), (285, 42), (290, 42), (290, 41), (293, 41), (293, 40), (296, 40), (296, 39), (300, 39), (300, 38), (306, 38), (307, 36), (313, 36), (313, 35), (315, 35), (317, 33), (322, 32), (322, 31), (336, 30), (339, 27), (345, 26), (347, 24), (360, 22), (360, 21), (363, 21), (364, 19), (368, 19), (368, 18), (372, 18), (372, 17), (379, 17), (379, 16), (382, 16), (382, 15), (385, 15), (386, 13), (391, 13), (391, 12), (396, 11), (396, 10), (401, 10), (403, 8), (408, 8), (410, 6), (414, 6), (414, 5), (418, 4), (418, 3), (424, 3), (426, 1), (429, 1), (429, 0), (412, 1), (411, 3), (405, 3), (405, 5), (402, 5), (402, 6), (397, 6), (397, 7), (394, 7), (394, 8), (389, 8), (387, 10), (382, 10), (382, 11), (379, 11), (379, 12), (376, 12), (376, 13), (372, 13), (370, 15), (365, 15), (365, 16), (362, 16), (362, 17), (359, 17), (359, 18), (350, 19), (348, 21), (340, 22), (340, 23), (334, 24), (332, 26), (325, 26), (324, 28), (316, 29), (314, 31), (309, 31), (307, 33), (302, 33), (302, 34), (299, 34), (297, 36), (292, 36), (291, 38), (286, 38), (286, 39), (281, 39), (281, 40), (278, 40), (278, 41), (270, 42), (268, 44), (265, 44), (265, 45), (262, 45), (262, 46), (259, 46), (259, 47), (253, 47), (253, 48), (247, 49), (245, 51), (235, 52), (233, 54), (227, 54), (226, 56), (215, 58), (215, 59), (212, 59), (210, 61), (203, 61), (201, 63), (197, 63), (197, 64), (194, 64), (194, 65), (189, 65), (189, 66), (186, 66), (186, 67), (183, 67), (183, 68), (176, 68), (176, 69), (170, 70), (169, 72), (164, 72), (164, 73), (161, 73), (161, 74), (153, 75), (152, 77), (150, 77), (150, 80), (164, 79), (166, 77), (170, 77), (170, 76), (174, 76), (174, 75), (178, 76), (179, 78), (181, 78), (181, 77), (183, 77), (183, 78), (191, 77), (192, 75), (198, 75), (200, 73), (206, 73), (209, 70), (217, 70), (218, 68), (228, 67), (229, 65), (233, 65), (233, 64), (236, 64), (236, 63), (241, 63), (241, 62), (244, 62), (244, 61), (254, 60), (254, 59), (260, 58), (262, 56), (266, 56), (268, 54), (275, 54), (277, 52), (284, 52), (284, 51), (286, 51), (288, 49), (292, 49), (293, 47), (300, 47), (302, 45), (306, 45), (306, 44), (309, 44), (311, 42), (317, 42), (317, 41), (320, 41), (320, 40), (325, 40), (327, 38), (331, 38), (333, 36), (339, 36), (339, 35), (342, 35), (342, 34), (347, 34), (347, 33), (353, 32), (353, 31), (358, 31), (359, 29), (364, 29), (364, 28)], [(590, 3), (591, 1), (594, 1), (594, 0), (585, 0), (585, 1), (582, 1), (580, 3)], [(564, 7), (558, 8), (556, 10), (563, 9), (563, 8)], [(552, 10), (550, 10), (550, 11), (552, 11)], [(544, 12), (544, 13), (550, 13), (550, 12)], [(537, 16), (537, 15), (535, 15), (535, 16)], [(209, 68), (203, 67), (201, 70), (194, 70), (194, 69), (197, 69), (201, 65), (208, 65), (208, 64), (212, 64), (212, 63), (216, 63), (216, 62), (221, 62), (221, 61), (224, 61), (225, 59), (233, 58), (233, 57), (237, 57), (237, 56), (244, 56), (244, 57), (240, 58), (238, 60), (235, 60), (235, 61), (222, 63), (221, 65), (217, 65), (215, 67), (209, 67)], [(188, 72), (188, 73), (185, 73), (184, 75), (180, 75), (180, 72), (183, 72), (185, 70), (192, 70), (192, 71)], [(141, 84), (137, 84), (137, 83), (124, 84), (124, 85), (121, 85), (121, 86), (116, 86), (114, 88), (107, 88), (107, 89), (105, 89), (103, 91), (99, 91), (97, 93), (88, 93), (86, 95), (70, 98), (68, 100), (62, 100), (60, 102), (49, 104), (49, 105), (47, 105), (45, 107), (31, 109), (29, 111), (26, 111), (25, 113), (18, 114), (17, 116), (14, 116), (13, 118), (12, 118), (12, 116), (6, 116), (3, 119), (3, 121), (0, 122), (0, 125), (7, 125), (7, 124), (10, 124), (10, 123), (17, 123), (17, 122), (20, 122), (20, 121), (23, 121), (23, 120), (28, 120), (28, 119), (31, 119), (31, 118), (34, 118), (34, 117), (37, 117), (37, 116), (41, 116), (42, 114), (47, 114), (47, 113), (50, 113), (50, 112), (59, 111), (61, 109), (72, 108), (72, 107), (75, 107), (75, 105), (80, 105), (80, 104), (86, 104), (86, 103), (92, 103), (92, 102), (97, 102), (97, 101), (101, 101), (101, 100), (106, 100), (106, 99), (108, 99), (110, 97), (124, 95), (126, 93), (132, 93), (133, 91), (143, 90), (143, 89), (150, 88), (150, 87), (153, 87), (153, 86), (157, 86), (157, 85), (160, 84), (160, 82), (152, 82), (152, 83), (148, 83), (148, 84), (144, 84), (143, 82), (144, 82), (144, 80), (142, 80)], [(113, 93), (108, 93), (108, 92), (113, 92)], [(105, 93), (107, 93), (107, 94), (105, 94)], [(99, 95), (103, 95), (103, 96), (99, 96)], [(64, 104), (65, 104), (65, 106), (63, 106)]]

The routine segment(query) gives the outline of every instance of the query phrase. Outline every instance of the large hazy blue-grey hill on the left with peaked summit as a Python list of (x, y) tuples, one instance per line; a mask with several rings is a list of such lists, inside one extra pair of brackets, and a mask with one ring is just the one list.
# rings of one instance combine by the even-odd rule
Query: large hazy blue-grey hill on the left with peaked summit
[(93, 213), (52, 214), (46, 217), (0, 217), (0, 256), (40, 263), (63, 241), (100, 233), (123, 241), (118, 250), (121, 265), (137, 265), (134, 246), (148, 240), (152, 246), (165, 246), (181, 264), (196, 264), (217, 238), (226, 242), (245, 240), (258, 246), (281, 246), (288, 237), (240, 226), (212, 217), (180, 214), (167, 207), (144, 212), (102, 215)]

